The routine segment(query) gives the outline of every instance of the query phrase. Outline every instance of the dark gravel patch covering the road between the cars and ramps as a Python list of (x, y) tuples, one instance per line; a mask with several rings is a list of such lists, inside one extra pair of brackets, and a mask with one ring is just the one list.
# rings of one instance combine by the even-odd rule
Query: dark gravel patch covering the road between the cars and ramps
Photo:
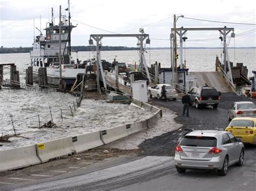
[(139, 145), (144, 151), (142, 155), (174, 155), (174, 148), (177, 146), (179, 137), (185, 135), (186, 132), (193, 130), (225, 130), (228, 125), (227, 110), (236, 101), (252, 101), (256, 104), (256, 100), (250, 100), (243, 95), (235, 95), (233, 93), (221, 94), (221, 101), (217, 109), (212, 107), (205, 107), (203, 109), (196, 109), (194, 106), (190, 107), (190, 117), (183, 117), (181, 115), (183, 104), (181, 100), (177, 101), (159, 101), (156, 99), (150, 100), (157, 107), (165, 107), (172, 110), (177, 117), (174, 121), (181, 124), (181, 128), (166, 132), (163, 135), (153, 137), (145, 140)]

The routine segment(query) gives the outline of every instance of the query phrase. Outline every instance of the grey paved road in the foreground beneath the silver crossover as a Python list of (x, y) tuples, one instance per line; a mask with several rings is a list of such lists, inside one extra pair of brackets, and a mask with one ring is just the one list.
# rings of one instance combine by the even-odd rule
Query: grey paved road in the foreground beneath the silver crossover
[(176, 172), (173, 157), (118, 158), (54, 178), (1, 190), (255, 190), (255, 147), (247, 147), (244, 166), (231, 166), (226, 176), (213, 171)]

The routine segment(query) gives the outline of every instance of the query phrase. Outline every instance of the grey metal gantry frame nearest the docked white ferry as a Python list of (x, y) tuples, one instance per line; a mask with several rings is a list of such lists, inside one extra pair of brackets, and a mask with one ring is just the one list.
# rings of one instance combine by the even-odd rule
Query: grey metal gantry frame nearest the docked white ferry
[[(106, 81), (105, 81), (105, 77), (104, 77), (104, 70), (102, 67), (102, 61), (100, 59), (100, 50), (99, 50), (99, 42), (100, 40), (102, 40), (104, 37), (135, 37), (140, 41), (140, 63), (139, 63), (139, 67), (143, 68), (143, 65), (145, 67), (146, 70), (146, 74), (147, 77), (149, 78), (149, 81), (151, 82), (150, 79), (150, 74), (149, 74), (149, 69), (147, 68), (147, 63), (146, 63), (146, 59), (145, 59), (145, 55), (144, 55), (144, 48), (143, 48), (143, 41), (148, 38), (149, 39), (149, 34), (91, 34), (90, 35), (90, 40), (89, 40), (89, 44), (92, 45), (92, 39), (94, 39), (96, 41), (96, 59), (97, 59), (97, 91), (98, 93), (100, 92), (100, 84), (99, 84), (99, 68), (100, 68), (100, 73), (102, 75), (102, 79), (103, 79), (103, 84), (104, 84), (104, 88), (106, 89)], [(92, 38), (92, 39), (91, 39)]]

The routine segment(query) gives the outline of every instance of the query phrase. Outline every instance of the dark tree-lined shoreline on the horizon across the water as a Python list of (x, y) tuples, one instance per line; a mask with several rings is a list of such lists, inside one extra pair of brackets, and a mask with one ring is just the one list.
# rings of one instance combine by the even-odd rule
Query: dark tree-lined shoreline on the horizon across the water
[[(232, 49), (234, 47), (229, 47)], [(256, 47), (235, 47), (237, 49), (255, 49)], [(73, 50), (78, 52), (90, 52), (96, 51), (96, 46), (72, 46)], [(151, 47), (149, 49), (170, 49), (170, 47)], [(219, 47), (186, 47), (183, 49), (219, 49)], [(102, 46), (100, 51), (138, 51), (137, 47), (126, 47), (126, 46)], [(11, 54), (11, 53), (30, 53), (32, 47), (11, 47), (11, 48), (0, 48), (0, 54)]]

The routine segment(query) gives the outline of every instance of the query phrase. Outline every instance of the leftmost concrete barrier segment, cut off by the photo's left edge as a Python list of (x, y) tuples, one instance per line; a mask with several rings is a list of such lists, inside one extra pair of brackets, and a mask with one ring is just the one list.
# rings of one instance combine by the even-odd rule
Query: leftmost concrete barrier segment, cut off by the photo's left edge
[(36, 145), (13, 148), (0, 152), (0, 172), (41, 163), (36, 155)]

